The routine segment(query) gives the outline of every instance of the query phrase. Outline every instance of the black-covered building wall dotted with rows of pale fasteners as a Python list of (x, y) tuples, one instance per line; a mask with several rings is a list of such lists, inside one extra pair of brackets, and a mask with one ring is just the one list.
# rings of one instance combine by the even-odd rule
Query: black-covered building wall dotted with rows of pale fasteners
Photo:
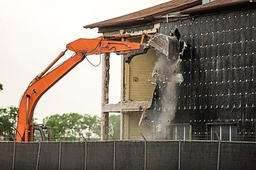
[[(188, 48), (177, 85), (172, 123), (189, 123), (192, 139), (211, 139), (211, 123), (235, 123), (236, 139), (255, 140), (255, 9), (161, 23), (159, 33), (178, 29)], [(161, 57), (157, 53), (157, 58)], [(162, 114), (157, 97), (146, 119)], [(168, 96), (166, 96), (168, 99)], [(160, 107), (160, 108), (159, 108)], [(156, 109), (157, 108), (157, 109)]]

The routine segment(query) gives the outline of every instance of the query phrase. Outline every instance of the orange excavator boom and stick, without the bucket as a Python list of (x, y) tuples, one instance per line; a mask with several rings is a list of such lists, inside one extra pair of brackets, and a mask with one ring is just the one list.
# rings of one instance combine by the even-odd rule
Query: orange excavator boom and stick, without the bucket
[[(127, 35), (125, 36), (129, 37)], [(123, 37), (125, 36), (123, 35)], [(141, 46), (142, 44), (138, 42), (106, 40), (103, 36), (94, 39), (81, 38), (67, 44), (67, 50), (75, 52), (75, 55), (46, 74), (46, 72), (65, 54), (66, 51), (61, 52), (60, 55), (44, 71), (41, 72), (41, 74), (32, 80), (29, 87), (22, 95), (18, 108), (16, 141), (30, 141), (28, 131), (32, 124), (32, 117), (37, 102), (47, 90), (49, 90), (70, 70), (86, 58), (87, 55), (111, 52), (125, 53), (138, 50)]]

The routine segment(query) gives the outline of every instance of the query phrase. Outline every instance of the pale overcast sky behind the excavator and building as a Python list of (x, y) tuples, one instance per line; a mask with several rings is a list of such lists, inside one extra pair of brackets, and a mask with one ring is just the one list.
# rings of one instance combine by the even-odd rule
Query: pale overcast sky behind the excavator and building
[[(152, 7), (158, 1), (0, 1), (0, 107), (16, 106), (30, 81), (45, 69), (66, 44), (78, 38), (100, 36), (83, 26)], [(71, 52), (62, 60), (68, 59)], [(120, 101), (121, 60), (112, 55), (110, 103)], [(99, 56), (89, 56), (97, 64)], [(61, 62), (60, 61), (60, 62)], [(84, 60), (39, 100), (34, 117), (78, 112), (101, 114), (101, 64)]]

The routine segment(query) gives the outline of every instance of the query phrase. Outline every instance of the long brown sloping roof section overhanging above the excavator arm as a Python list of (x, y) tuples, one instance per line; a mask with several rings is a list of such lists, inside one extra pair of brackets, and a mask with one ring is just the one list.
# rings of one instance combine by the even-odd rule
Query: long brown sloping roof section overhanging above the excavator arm
[(181, 11), (200, 4), (202, 4), (202, 0), (173, 0), (127, 15), (92, 23), (91, 25), (84, 26), (83, 28), (102, 28), (129, 24), (135, 21), (151, 21), (154, 20), (154, 16)]

